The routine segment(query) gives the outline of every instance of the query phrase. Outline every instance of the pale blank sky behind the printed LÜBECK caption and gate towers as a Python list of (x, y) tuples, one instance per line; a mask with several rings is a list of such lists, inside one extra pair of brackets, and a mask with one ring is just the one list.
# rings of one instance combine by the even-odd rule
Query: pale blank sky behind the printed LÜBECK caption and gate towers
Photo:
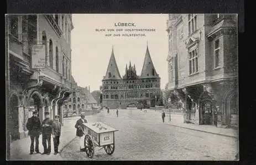
[[(147, 41), (156, 72), (161, 78), (161, 89), (168, 82), (167, 14), (72, 14), (74, 29), (71, 31), (72, 76), (77, 85), (90, 85), (91, 92), (100, 90), (111, 56), (114, 56), (121, 76), (126, 64), (135, 64), (140, 75)], [(134, 23), (130, 27), (116, 27), (118, 23)], [(105, 32), (96, 29), (106, 29)], [(108, 32), (107, 29), (155, 29), (155, 32)], [(105, 36), (112, 34), (112, 36)], [(113, 34), (145, 34), (142, 37), (114, 37)]]

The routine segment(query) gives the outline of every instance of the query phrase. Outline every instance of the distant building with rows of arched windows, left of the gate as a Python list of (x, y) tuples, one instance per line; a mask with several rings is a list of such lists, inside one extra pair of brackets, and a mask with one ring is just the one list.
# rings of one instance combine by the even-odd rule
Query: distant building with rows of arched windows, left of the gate
[(62, 106), (66, 117), (92, 110), (97, 106), (97, 101), (90, 94), (90, 86), (88, 88), (78, 86), (73, 76), (71, 76), (71, 90), (72, 94)]

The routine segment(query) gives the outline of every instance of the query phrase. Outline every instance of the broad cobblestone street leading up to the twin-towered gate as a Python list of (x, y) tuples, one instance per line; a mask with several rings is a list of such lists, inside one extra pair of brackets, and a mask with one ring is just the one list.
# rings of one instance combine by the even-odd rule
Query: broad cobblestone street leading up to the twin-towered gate
[[(166, 118), (168, 120), (168, 118)], [(159, 112), (121, 109), (108, 114), (103, 111), (88, 122), (101, 121), (118, 129), (115, 151), (107, 155), (95, 148), (92, 159), (80, 152), (79, 138), (75, 138), (61, 152), (65, 160), (226, 160), (233, 161), (238, 152), (235, 138), (189, 130), (161, 122)]]

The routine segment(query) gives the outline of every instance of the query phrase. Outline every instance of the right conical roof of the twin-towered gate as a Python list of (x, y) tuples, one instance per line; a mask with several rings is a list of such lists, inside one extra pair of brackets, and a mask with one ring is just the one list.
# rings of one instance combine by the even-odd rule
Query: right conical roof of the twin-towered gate
[(159, 78), (159, 75), (156, 73), (154, 64), (150, 57), (148, 45), (147, 45), (147, 51), (145, 54), (142, 73), (140, 74), (140, 78)]

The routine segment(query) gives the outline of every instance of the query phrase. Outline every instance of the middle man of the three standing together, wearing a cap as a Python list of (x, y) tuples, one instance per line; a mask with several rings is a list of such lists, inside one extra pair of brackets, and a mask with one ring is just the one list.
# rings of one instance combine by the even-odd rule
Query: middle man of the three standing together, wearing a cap
[(42, 143), (44, 146), (44, 152), (42, 153), (50, 155), (51, 153), (51, 133), (53, 133), (53, 120), (50, 119), (49, 112), (44, 113), (45, 119), (42, 122)]

